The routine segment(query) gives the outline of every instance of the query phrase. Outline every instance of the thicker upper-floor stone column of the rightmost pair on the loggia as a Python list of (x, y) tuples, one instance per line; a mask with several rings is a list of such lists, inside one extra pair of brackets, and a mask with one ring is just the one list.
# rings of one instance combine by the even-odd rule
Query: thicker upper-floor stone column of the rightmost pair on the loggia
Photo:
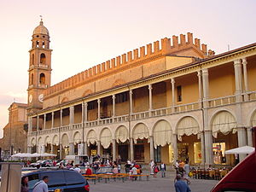
[(235, 80), (236, 80), (236, 102), (241, 102), (241, 60), (234, 61)]

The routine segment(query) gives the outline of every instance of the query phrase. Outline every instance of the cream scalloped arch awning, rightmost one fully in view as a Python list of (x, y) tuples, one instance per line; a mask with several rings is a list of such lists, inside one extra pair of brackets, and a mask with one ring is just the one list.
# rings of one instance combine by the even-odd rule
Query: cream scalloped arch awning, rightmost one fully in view
[(212, 120), (212, 136), (217, 138), (218, 132), (227, 135), (230, 131), (232, 131), (232, 133), (236, 133), (235, 117), (227, 111), (218, 113)]

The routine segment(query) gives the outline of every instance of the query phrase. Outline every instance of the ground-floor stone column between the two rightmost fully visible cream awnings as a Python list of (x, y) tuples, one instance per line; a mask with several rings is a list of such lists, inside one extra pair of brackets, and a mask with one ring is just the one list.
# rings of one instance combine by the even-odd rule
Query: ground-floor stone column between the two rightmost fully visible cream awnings
[(205, 131), (205, 162), (208, 165), (212, 165), (212, 131)]

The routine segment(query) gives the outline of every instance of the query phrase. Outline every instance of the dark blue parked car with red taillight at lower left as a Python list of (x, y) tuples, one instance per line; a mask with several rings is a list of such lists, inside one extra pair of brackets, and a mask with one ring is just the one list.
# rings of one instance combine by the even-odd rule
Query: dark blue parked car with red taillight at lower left
[(90, 186), (86, 179), (79, 172), (69, 170), (38, 171), (30, 172), (24, 176), (28, 177), (29, 192), (33, 186), (44, 176), (49, 177), (49, 191), (63, 189), (63, 192), (89, 192)]

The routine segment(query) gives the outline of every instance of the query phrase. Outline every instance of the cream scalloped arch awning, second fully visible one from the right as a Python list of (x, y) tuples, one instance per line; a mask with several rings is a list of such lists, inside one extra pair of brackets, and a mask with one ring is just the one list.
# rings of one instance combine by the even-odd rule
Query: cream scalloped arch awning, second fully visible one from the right
[[(197, 121), (192, 117), (184, 117), (177, 125), (177, 139), (182, 141), (182, 136), (196, 135), (200, 132)], [(200, 135), (198, 135), (199, 137)]]

